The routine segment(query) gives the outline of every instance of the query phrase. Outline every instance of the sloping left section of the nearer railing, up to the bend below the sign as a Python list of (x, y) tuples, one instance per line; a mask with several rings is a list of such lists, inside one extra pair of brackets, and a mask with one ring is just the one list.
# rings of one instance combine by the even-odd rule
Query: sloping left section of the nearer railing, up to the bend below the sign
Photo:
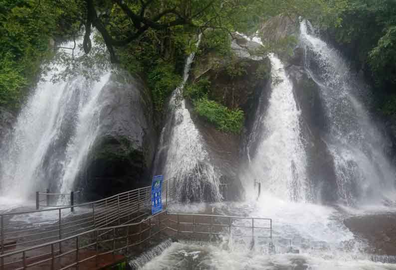
[[(165, 212), (138, 223), (96, 228), (60, 240), (0, 255), (0, 269), (92, 269), (124, 261), (138, 246), (168, 228)], [(63, 247), (63, 250), (60, 248)], [(38, 254), (38, 255), (37, 255)], [(106, 258), (107, 256), (107, 258)]]

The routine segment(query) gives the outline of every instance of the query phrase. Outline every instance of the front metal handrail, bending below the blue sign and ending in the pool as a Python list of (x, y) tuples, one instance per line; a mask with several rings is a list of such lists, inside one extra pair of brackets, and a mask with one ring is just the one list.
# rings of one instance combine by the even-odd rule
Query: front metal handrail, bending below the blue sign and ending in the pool
[[(166, 215), (165, 218), (161, 218), (163, 215)], [(168, 216), (172, 215), (177, 215), (178, 220), (174, 221)], [(185, 217), (192, 217), (192, 222), (180, 222), (179, 216), (185, 216)], [(210, 218), (210, 224), (202, 224), (202, 223), (197, 223), (195, 218), (196, 217), (206, 217)], [(216, 224), (213, 223), (214, 218), (226, 218), (228, 219), (229, 224)], [(158, 220), (155, 220), (158, 219)], [(231, 224), (232, 219), (251, 219), (252, 224), (251, 226), (238, 226)], [(32, 247), (28, 247), (22, 250), (18, 251), (13, 251), (9, 252), (3, 255), (0, 255), (0, 265), (1, 269), (4, 269), (6, 266), (7, 268), (17, 268), (17, 269), (27, 269), (29, 267), (33, 266), (38, 266), (42, 264), (46, 264), (51, 262), (51, 266), (49, 267), (47, 265), (47, 269), (55, 269), (55, 260), (58, 258), (64, 258), (67, 256), (69, 258), (66, 263), (66, 265), (62, 265), (62, 269), (67, 269), (70, 267), (76, 267), (78, 269), (78, 266), (87, 262), (89, 260), (95, 260), (96, 266), (98, 266), (98, 258), (101, 256), (105, 256), (107, 254), (113, 254), (113, 259), (111, 263), (117, 263), (120, 260), (125, 260), (125, 259), (116, 259), (115, 258), (115, 253), (119, 252), (120, 254), (123, 255), (128, 255), (130, 248), (134, 246), (138, 246), (143, 244), (144, 242), (148, 241), (155, 235), (165, 232), (168, 230), (167, 235), (175, 235), (177, 233), (177, 237), (180, 237), (180, 234), (189, 234), (189, 235), (214, 235), (214, 236), (219, 236), (219, 235), (225, 235), (225, 234), (231, 234), (231, 227), (243, 227), (243, 228), (248, 228), (251, 229), (251, 237), (252, 237), (252, 244), (254, 245), (254, 238), (255, 237), (266, 237), (266, 236), (255, 236), (254, 235), (254, 230), (255, 229), (261, 229), (261, 227), (256, 227), (254, 226), (253, 221), (254, 220), (268, 220), (270, 221), (270, 227), (268, 229), (271, 229), (270, 236), (268, 238), (271, 238), (271, 243), (272, 243), (272, 219), (269, 218), (252, 218), (252, 217), (239, 217), (239, 216), (221, 216), (221, 215), (206, 215), (206, 214), (185, 214), (185, 213), (168, 213), (167, 211), (162, 211), (160, 213), (157, 213), (155, 215), (152, 215), (148, 218), (145, 218), (141, 220), (140, 222), (134, 222), (134, 223), (128, 223), (124, 225), (116, 225), (116, 226), (108, 226), (104, 228), (95, 228), (91, 229), (89, 231), (85, 231), (79, 234), (75, 234), (73, 236), (65, 237), (59, 240), (47, 242), (44, 244), (39, 244), (35, 245)], [(154, 220), (154, 221), (152, 221)], [(177, 228), (173, 227), (171, 224), (171, 221), (173, 223), (177, 224)], [(145, 224), (145, 228), (142, 228), (142, 224)], [(186, 231), (186, 230), (180, 230), (180, 226), (183, 225), (191, 225), (192, 230), (191, 231)], [(208, 228), (212, 228), (213, 226), (220, 226), (223, 229), (221, 231), (213, 231), (212, 229), (208, 231), (199, 231), (195, 226), (199, 225), (206, 225)], [(138, 226), (138, 227), (134, 227)], [(157, 228), (152, 232), (152, 228)], [(123, 230), (120, 230), (123, 229)], [(125, 230), (126, 229), (126, 230)], [(131, 230), (132, 229), (132, 230)], [(226, 230), (224, 230), (226, 229)], [(104, 233), (101, 233), (103, 232)], [(116, 234), (117, 233), (117, 234)], [(103, 237), (102, 237), (103, 236)], [(240, 235), (238, 237), (245, 237), (248, 235)], [(73, 245), (69, 244), (68, 246), (65, 246), (65, 250), (61, 250), (61, 244), (66, 241), (75, 241), (75, 247)], [(81, 241), (83, 240), (90, 240), (92, 241), (90, 244), (82, 244)], [(89, 243), (89, 242), (88, 242)], [(99, 249), (100, 245), (100, 249)], [(58, 250), (55, 250), (55, 247), (59, 247)], [(93, 249), (95, 247), (95, 249)], [(46, 249), (47, 248), (47, 249)], [(50, 248), (50, 252), (48, 252), (48, 248)], [(26, 254), (30, 251), (34, 251), (35, 253), (33, 257), (27, 257)], [(80, 256), (79, 253), (83, 252), (84, 250), (90, 250), (93, 253), (88, 254), (88, 257), (85, 256)], [(39, 254), (39, 255), (37, 255)], [(36, 259), (40, 258), (39, 261)], [(124, 257), (125, 258), (125, 257)], [(7, 260), (6, 260), (7, 259)], [(34, 259), (34, 261), (32, 261)], [(30, 260), (30, 261), (28, 261)], [(57, 261), (59, 262), (59, 261)]]

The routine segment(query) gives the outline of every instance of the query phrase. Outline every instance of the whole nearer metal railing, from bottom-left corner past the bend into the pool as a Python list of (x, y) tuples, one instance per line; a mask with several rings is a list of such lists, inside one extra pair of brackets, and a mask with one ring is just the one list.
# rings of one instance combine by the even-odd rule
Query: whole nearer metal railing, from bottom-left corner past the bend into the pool
[[(176, 218), (173, 219), (173, 218)], [(233, 221), (249, 221), (250, 225), (238, 225)], [(264, 221), (267, 226), (256, 226)], [(189, 229), (190, 228), (190, 229)], [(97, 268), (101, 259), (108, 256), (111, 264), (125, 260), (131, 248), (164, 232), (167, 235), (226, 235), (231, 228), (243, 228), (251, 231), (254, 237), (272, 238), (272, 220), (266, 218), (249, 218), (235, 216), (172, 214), (165, 211), (137, 223), (96, 228), (60, 240), (48, 242), (19, 251), (0, 255), (0, 269), (25, 270), (32, 267), (39, 269), (91, 269)], [(257, 230), (266, 230), (268, 235), (255, 235)], [(249, 236), (250, 235), (240, 235)], [(61, 249), (63, 247), (63, 251)], [(38, 255), (37, 255), (38, 254)], [(110, 257), (109, 257), (110, 256)], [(102, 265), (103, 267), (103, 265)]]

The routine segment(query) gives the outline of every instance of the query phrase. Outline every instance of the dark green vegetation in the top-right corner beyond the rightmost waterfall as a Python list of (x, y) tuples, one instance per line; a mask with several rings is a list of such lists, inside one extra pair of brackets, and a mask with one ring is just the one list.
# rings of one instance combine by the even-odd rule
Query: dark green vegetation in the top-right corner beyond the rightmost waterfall
[(322, 28), (372, 82), (378, 108), (396, 115), (396, 1), (344, 0), (336, 7), (339, 23)]

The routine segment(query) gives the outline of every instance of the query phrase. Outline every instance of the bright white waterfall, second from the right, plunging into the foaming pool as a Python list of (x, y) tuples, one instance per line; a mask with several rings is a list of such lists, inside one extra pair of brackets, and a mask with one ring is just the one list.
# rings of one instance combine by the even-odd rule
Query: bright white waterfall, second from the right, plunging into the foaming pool
[[(272, 93), (266, 110), (262, 108), (264, 97), (260, 98), (254, 127), (246, 145), (247, 175), (260, 181), (265, 192), (278, 198), (310, 200), (307, 158), (300, 136), (300, 111), (283, 64), (274, 55), (270, 55), (270, 60)], [(254, 145), (257, 148), (254, 149)]]

